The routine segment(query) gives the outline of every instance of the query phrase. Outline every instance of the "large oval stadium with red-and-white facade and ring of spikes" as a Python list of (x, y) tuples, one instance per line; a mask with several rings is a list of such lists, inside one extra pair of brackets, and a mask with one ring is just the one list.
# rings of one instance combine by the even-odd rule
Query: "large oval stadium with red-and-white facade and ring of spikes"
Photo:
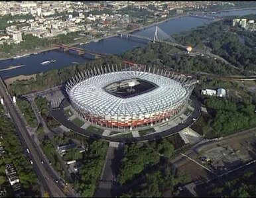
[(146, 66), (100, 66), (66, 83), (73, 109), (107, 128), (141, 128), (182, 113), (194, 89), (192, 77)]

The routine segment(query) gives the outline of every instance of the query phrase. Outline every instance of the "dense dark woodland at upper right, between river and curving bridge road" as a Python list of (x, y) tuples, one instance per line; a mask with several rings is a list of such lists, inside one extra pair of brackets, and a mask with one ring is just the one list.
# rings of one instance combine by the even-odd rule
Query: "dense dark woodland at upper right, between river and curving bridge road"
[[(248, 19), (253, 18), (255, 15), (248, 16)], [(225, 19), (202, 28), (196, 28), (196, 30), (190, 30), (184, 36), (177, 36), (176, 40), (184, 45), (192, 46), (204, 42), (213, 49), (214, 54), (221, 56), (231, 64), (247, 71), (255, 71), (256, 50), (251, 42), (245, 42), (245, 44), (239, 42), (238, 38), (243, 34), (246, 34), (251, 41), (256, 40), (256, 34), (231, 28), (231, 20)]]

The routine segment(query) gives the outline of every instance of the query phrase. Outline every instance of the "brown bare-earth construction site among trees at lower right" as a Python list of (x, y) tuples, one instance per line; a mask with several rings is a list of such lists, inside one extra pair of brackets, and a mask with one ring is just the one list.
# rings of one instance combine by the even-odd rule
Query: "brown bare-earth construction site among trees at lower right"
[(249, 168), (256, 162), (255, 149), (256, 128), (251, 128), (224, 138), (204, 139), (172, 160), (172, 163), (178, 170), (190, 174), (192, 183), (187, 187), (191, 193), (196, 187), (213, 179), (228, 178), (229, 173)]

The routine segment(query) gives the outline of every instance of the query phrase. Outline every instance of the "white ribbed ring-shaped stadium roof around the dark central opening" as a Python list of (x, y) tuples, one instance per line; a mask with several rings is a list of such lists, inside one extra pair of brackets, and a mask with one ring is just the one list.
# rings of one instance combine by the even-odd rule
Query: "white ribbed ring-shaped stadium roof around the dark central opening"
[[(158, 87), (134, 97), (121, 98), (107, 93), (103, 87), (127, 79), (143, 79)], [(96, 115), (141, 115), (176, 105), (188, 97), (182, 83), (149, 72), (123, 71), (96, 75), (76, 83), (68, 91), (80, 108)]]

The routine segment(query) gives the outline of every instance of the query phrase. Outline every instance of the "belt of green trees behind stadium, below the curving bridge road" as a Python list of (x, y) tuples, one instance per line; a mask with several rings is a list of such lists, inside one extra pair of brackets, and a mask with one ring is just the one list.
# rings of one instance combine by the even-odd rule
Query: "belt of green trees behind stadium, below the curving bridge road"
[(160, 68), (168, 67), (172, 68), (172, 70), (186, 73), (235, 74), (233, 68), (224, 65), (219, 60), (207, 58), (206, 56), (186, 56), (184, 54), (178, 54), (179, 51), (176, 47), (168, 44), (149, 43), (145, 48), (135, 48), (134, 50), (123, 53), (122, 57), (125, 60), (139, 64), (149, 64)]

